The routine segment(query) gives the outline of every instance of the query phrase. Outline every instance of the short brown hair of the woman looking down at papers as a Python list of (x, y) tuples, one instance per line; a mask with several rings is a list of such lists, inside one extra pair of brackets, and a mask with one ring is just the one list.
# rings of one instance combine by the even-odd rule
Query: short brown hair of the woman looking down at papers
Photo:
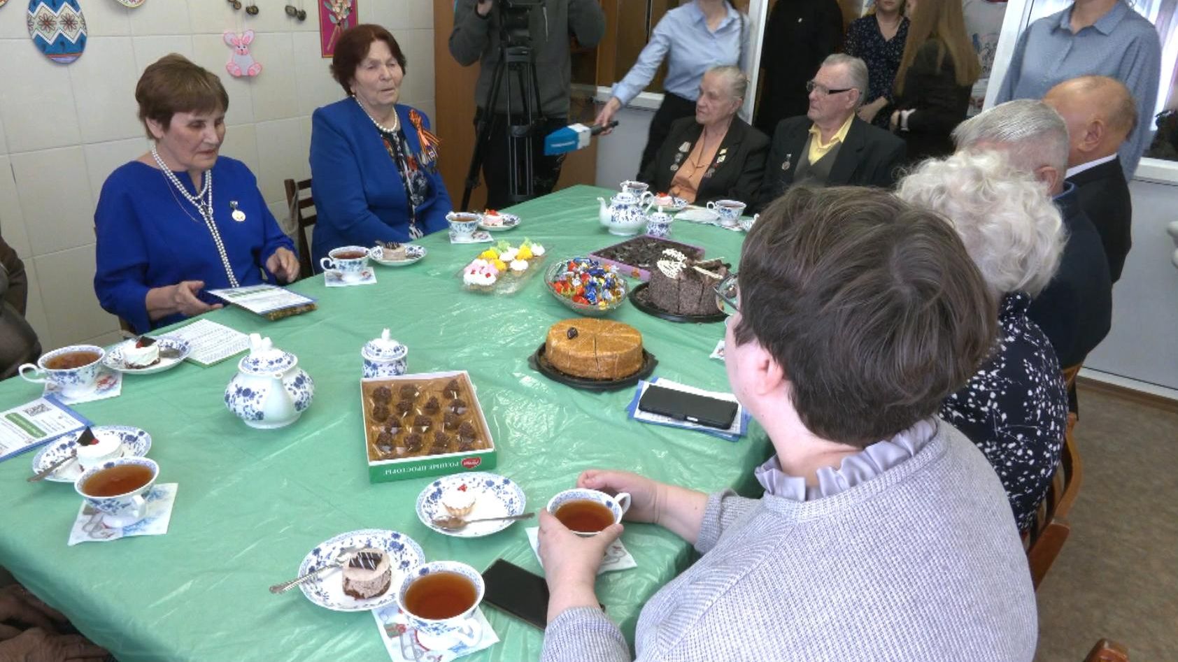
[(147, 120), (167, 130), (176, 113), (210, 113), (229, 110), (229, 93), (217, 74), (193, 64), (179, 53), (164, 55), (147, 65), (135, 85), (139, 121), (147, 138), (154, 139)]

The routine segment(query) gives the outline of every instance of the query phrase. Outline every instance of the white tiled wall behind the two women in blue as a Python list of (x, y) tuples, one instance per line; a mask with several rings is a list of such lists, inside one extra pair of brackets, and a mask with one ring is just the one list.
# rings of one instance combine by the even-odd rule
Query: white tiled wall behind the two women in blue
[[(249, 2), (243, 2), (249, 4)], [(59, 65), (28, 39), (24, 5), (0, 9), (0, 234), (29, 277), (29, 323), (48, 350), (111, 342), (118, 320), (93, 290), (94, 207), (102, 181), (150, 143), (135, 119), (134, 87), (144, 67), (180, 53), (217, 73), (230, 95), (221, 153), (258, 177), (271, 211), (285, 223), (283, 180), (310, 176), (311, 112), (338, 100), (339, 85), (319, 57), (316, 2), (257, 2), (257, 16), (224, 0), (148, 0), (128, 9), (112, 0), (82, 4), (88, 40), (81, 58)], [(434, 5), (364, 0), (359, 20), (388, 27), (409, 60), (402, 101), (434, 115)], [(253, 29), (263, 72), (225, 72), (221, 34)]]

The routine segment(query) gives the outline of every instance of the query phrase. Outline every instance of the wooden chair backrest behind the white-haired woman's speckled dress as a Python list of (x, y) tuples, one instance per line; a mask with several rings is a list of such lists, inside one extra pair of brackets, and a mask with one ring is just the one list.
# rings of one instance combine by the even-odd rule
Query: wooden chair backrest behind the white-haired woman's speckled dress
[(1047, 496), (1035, 512), (1034, 522), (1027, 534), (1027, 564), (1031, 567), (1031, 580), (1038, 589), (1047, 576), (1047, 570), (1064, 547), (1064, 541), (1072, 531), (1065, 517), (1072, 510), (1080, 482), (1084, 476), (1084, 463), (1076, 448), (1076, 437), (1071, 426), (1064, 433), (1064, 448), (1059, 455), (1059, 464), (1047, 488)]

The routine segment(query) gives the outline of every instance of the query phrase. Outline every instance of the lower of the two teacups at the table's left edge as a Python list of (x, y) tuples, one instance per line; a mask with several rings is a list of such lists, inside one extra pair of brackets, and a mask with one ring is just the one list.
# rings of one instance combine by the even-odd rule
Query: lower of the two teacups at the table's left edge
[(159, 464), (146, 457), (120, 457), (91, 466), (74, 482), (86, 504), (111, 527), (128, 527), (147, 515), (147, 492)]

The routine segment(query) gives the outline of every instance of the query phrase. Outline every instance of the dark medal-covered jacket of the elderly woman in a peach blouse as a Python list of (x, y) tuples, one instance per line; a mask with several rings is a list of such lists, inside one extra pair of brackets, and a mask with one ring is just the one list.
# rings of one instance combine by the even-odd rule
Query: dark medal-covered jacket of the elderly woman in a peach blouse
[[(659, 147), (655, 160), (647, 164), (638, 176), (641, 181), (651, 186), (653, 191), (667, 191), (675, 177), (679, 164), (687, 160), (695, 141), (703, 133), (703, 125), (696, 124), (695, 115), (680, 118), (671, 123), (667, 140)], [(687, 151), (680, 150), (687, 145)], [(700, 180), (700, 190), (695, 194), (695, 204), (703, 205), (710, 200), (733, 199), (747, 205), (756, 200), (761, 188), (761, 176), (765, 174), (765, 157), (769, 151), (769, 139), (753, 128), (744, 120), (733, 118), (728, 133), (716, 148), (716, 155)], [(671, 166), (676, 166), (671, 170)]]

